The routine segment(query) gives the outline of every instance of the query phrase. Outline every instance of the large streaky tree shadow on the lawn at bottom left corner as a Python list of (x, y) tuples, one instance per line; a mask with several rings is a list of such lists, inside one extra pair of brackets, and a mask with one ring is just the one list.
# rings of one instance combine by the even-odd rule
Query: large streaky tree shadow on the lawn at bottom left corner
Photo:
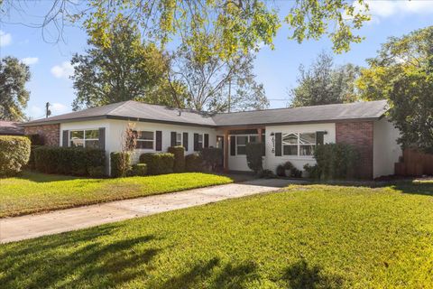
[(104, 237), (115, 236), (115, 228), (93, 228), (5, 245), (0, 255), (1, 287), (107, 288), (145, 275), (145, 266), (161, 248), (137, 246), (155, 237)]

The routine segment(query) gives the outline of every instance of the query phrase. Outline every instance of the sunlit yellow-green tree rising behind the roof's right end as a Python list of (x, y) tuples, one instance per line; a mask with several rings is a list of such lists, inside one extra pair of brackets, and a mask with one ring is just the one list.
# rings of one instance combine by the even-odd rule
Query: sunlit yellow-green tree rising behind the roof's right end
[(401, 37), (390, 37), (377, 56), (367, 60), (356, 81), (362, 98), (374, 100), (390, 97), (394, 82), (418, 70), (433, 67), (433, 26)]

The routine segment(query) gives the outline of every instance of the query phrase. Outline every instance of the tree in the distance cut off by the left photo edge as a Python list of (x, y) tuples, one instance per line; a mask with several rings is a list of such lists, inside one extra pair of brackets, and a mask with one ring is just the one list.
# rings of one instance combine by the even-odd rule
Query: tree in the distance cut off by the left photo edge
[(0, 60), (0, 119), (22, 121), (30, 92), (25, 83), (30, 80), (29, 67), (8, 56)]

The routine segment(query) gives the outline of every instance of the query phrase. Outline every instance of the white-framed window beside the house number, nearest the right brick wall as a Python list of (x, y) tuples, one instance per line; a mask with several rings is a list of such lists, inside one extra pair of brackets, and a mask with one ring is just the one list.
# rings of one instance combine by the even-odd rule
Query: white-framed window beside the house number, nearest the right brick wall
[(316, 133), (290, 133), (282, 135), (282, 154), (311, 156), (316, 147)]

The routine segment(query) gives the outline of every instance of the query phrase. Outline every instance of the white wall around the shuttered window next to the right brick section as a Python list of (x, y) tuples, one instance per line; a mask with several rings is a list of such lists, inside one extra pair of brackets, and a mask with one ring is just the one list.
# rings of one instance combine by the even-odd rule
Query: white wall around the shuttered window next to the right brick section
[(322, 123), (322, 124), (306, 124), (306, 125), (290, 125), (290, 126), (266, 126), (266, 156), (265, 156), (265, 168), (275, 172), (277, 166), (281, 163), (289, 161), (298, 170), (304, 171), (304, 165), (309, 163), (315, 164), (316, 161), (312, 156), (289, 156), (281, 155), (275, 156), (272, 153), (272, 133), (315, 133), (317, 131), (326, 131), (324, 135), (325, 144), (336, 142), (336, 124), (334, 123)]

